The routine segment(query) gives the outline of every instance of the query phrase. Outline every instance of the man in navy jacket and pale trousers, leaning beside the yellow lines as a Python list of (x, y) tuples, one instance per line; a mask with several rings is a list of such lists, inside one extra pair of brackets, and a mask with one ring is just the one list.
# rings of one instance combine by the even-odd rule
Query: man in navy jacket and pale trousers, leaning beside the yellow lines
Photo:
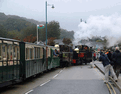
[(109, 81), (109, 71), (111, 72), (114, 80), (117, 82), (117, 77), (114, 73), (113, 67), (110, 64), (110, 60), (108, 59), (107, 55), (105, 55), (103, 52), (100, 53), (99, 61), (102, 61), (102, 64), (104, 66), (104, 72), (105, 72), (105, 83)]

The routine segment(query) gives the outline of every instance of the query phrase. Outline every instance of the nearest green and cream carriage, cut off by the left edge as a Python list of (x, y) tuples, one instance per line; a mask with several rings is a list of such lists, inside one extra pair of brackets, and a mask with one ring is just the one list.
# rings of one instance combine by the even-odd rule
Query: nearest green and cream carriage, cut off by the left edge
[(19, 41), (0, 38), (0, 87), (20, 79)]

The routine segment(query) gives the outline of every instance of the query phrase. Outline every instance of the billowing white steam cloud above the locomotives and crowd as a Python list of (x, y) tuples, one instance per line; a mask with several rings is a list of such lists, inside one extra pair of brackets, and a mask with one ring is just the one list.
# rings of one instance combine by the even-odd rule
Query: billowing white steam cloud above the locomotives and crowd
[(86, 23), (80, 22), (78, 28), (74, 34), (75, 44), (92, 36), (106, 36), (108, 46), (113, 46), (121, 40), (121, 15), (115, 13), (111, 16), (90, 16)]

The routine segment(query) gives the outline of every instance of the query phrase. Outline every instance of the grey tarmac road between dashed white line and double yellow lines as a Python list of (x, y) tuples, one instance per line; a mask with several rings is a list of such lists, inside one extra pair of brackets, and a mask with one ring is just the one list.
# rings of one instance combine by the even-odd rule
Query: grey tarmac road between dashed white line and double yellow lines
[(88, 64), (65, 68), (29, 94), (109, 94), (109, 91), (103, 75)]

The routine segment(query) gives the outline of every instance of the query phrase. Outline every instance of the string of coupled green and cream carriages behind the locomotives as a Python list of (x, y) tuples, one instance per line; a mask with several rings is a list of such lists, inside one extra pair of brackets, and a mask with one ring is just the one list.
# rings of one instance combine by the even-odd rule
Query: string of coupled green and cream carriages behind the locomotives
[(0, 37), (0, 87), (59, 67), (60, 59), (53, 55), (55, 49)]

